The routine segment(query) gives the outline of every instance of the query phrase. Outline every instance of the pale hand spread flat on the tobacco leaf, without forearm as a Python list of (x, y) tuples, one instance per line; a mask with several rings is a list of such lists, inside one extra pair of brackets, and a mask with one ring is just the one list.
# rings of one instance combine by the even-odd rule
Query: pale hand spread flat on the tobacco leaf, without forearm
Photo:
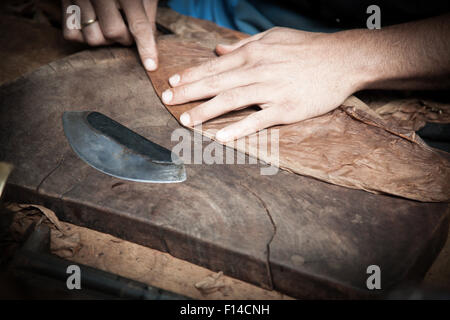
[(214, 97), (181, 115), (186, 126), (261, 107), (219, 130), (216, 139), (222, 142), (322, 115), (361, 82), (352, 50), (335, 35), (274, 28), (231, 46), (218, 45), (219, 57), (170, 77), (172, 88), (163, 93), (163, 101), (176, 105)]

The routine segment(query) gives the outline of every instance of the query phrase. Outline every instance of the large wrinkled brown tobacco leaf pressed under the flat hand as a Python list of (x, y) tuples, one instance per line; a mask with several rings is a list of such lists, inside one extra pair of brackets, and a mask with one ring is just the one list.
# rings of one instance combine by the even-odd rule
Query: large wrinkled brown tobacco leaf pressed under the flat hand
[[(148, 75), (159, 97), (169, 88), (171, 75), (215, 56), (200, 38), (193, 41), (176, 36), (160, 38), (158, 52), (159, 68)], [(183, 112), (201, 102), (166, 108), (179, 121)], [(252, 112), (255, 110), (244, 109), (210, 120), (203, 124), (201, 133), (214, 138), (219, 129)], [(449, 158), (425, 145), (413, 131), (388, 124), (354, 96), (323, 116), (273, 127), (268, 135), (274, 129), (279, 130), (278, 166), (282, 169), (372, 193), (419, 201), (450, 200)], [(227, 146), (277, 165), (273, 154), (258, 150), (254, 136)]]

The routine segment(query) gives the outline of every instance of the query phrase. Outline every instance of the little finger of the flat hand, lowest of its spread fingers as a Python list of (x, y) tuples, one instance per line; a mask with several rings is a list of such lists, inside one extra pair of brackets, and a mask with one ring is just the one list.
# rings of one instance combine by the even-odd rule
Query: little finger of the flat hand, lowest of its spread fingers
[(252, 113), (247, 118), (219, 130), (216, 139), (228, 142), (276, 125), (279, 122), (277, 121), (279, 113), (280, 110), (274, 107)]

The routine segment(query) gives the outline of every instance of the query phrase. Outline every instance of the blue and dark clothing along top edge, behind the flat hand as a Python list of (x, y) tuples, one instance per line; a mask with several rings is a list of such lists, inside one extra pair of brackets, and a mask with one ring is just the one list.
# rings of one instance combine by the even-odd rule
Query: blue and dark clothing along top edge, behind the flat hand
[(168, 0), (167, 4), (181, 14), (248, 34), (274, 26), (316, 32), (365, 28), (371, 4), (381, 8), (382, 27), (450, 10), (450, 1), (437, 0)]

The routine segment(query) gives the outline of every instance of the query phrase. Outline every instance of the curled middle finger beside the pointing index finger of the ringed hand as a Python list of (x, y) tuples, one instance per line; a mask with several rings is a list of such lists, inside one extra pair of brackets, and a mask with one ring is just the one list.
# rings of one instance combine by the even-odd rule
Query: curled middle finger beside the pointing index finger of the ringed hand
[(133, 38), (114, 0), (92, 0), (103, 36), (125, 46), (133, 43)]

